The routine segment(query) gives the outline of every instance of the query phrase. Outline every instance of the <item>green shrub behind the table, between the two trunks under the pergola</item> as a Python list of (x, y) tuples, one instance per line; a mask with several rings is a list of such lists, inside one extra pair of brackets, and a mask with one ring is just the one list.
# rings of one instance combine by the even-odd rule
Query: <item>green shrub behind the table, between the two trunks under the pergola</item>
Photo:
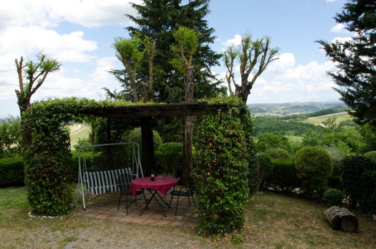
[(174, 178), (181, 176), (183, 169), (183, 144), (164, 143), (159, 146), (162, 156), (162, 171), (167, 172)]

